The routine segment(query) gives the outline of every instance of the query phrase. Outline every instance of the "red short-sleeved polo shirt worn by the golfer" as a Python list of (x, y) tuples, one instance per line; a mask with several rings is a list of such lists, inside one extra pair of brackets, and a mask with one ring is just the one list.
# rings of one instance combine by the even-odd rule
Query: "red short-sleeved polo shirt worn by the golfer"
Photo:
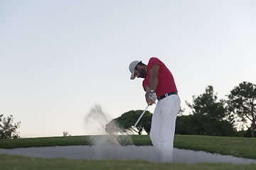
[(149, 59), (149, 63), (147, 64), (147, 74), (146, 78), (142, 82), (143, 89), (145, 89), (146, 85), (149, 85), (150, 72), (149, 69), (154, 65), (159, 64), (159, 75), (158, 75), (158, 84), (156, 86), (156, 96), (162, 96), (169, 92), (178, 92), (176, 88), (176, 84), (174, 82), (174, 77), (171, 74), (170, 70), (166, 67), (166, 65), (161, 62), (156, 57), (151, 57)]

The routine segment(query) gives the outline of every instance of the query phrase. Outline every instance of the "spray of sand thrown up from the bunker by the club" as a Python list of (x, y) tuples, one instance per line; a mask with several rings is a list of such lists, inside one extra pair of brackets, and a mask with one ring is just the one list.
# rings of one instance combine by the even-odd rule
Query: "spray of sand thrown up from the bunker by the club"
[(111, 121), (113, 118), (102, 111), (99, 104), (95, 104), (85, 115), (85, 130), (94, 151), (93, 159), (108, 159), (112, 154), (119, 153), (120, 159), (126, 155), (124, 145), (132, 145), (129, 135), (122, 133), (125, 130)]

